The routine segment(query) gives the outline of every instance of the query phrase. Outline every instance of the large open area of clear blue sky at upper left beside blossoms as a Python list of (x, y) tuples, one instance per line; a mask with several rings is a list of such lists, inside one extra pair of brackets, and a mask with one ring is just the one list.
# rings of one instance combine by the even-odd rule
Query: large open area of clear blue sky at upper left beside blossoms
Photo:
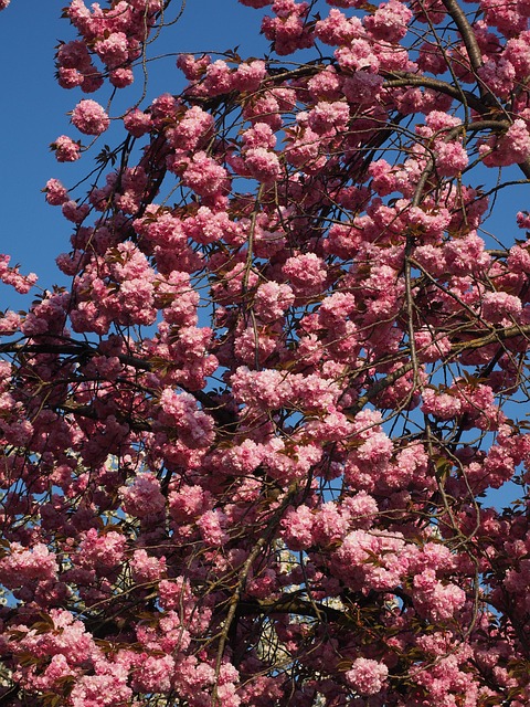
[[(55, 257), (70, 250), (72, 229), (59, 208), (45, 203), (41, 189), (51, 177), (71, 187), (92, 168), (89, 155), (74, 165), (57, 163), (49, 146), (62, 134), (81, 137), (70, 124), (67, 112), (82, 97), (104, 103), (99, 94), (64, 91), (54, 80), (54, 48), (60, 40), (75, 39), (70, 22), (61, 19), (65, 6), (65, 0), (12, 0), (0, 13), (0, 253), (11, 255), (11, 264), (20, 263), (23, 273), (35, 272), (43, 288), (57, 282), (67, 285)], [(176, 15), (180, 2), (173, 0), (173, 6), (168, 19)], [(181, 20), (162, 31), (160, 40), (149, 48), (149, 55), (222, 52), (236, 45), (242, 55), (263, 54), (268, 43), (258, 34), (262, 14), (237, 0), (188, 0)], [(182, 88), (174, 61), (171, 56), (149, 64), (148, 99)], [(120, 93), (119, 105), (132, 105), (141, 94), (140, 81)], [(102, 146), (117, 145), (123, 133), (116, 131), (115, 136), (113, 140), (110, 130), (102, 136)], [(23, 308), (26, 302), (0, 284), (0, 310)]]

